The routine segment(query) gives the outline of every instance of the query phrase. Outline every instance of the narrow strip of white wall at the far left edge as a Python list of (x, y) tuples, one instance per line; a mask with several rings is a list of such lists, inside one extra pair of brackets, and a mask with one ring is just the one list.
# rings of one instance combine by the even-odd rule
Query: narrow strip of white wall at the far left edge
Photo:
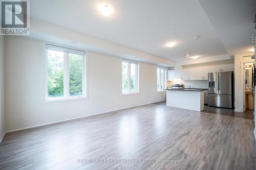
[(0, 142), (5, 134), (4, 36), (0, 36)]

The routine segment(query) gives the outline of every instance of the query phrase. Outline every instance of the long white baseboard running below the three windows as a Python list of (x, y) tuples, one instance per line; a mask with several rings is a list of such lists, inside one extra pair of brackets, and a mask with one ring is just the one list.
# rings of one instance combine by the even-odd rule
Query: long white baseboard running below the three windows
[(115, 109), (115, 110), (102, 111), (102, 112), (97, 112), (97, 113), (93, 113), (93, 114), (89, 114), (89, 115), (69, 117), (69, 118), (57, 119), (57, 120), (52, 120), (52, 121), (49, 121), (49, 122), (42, 122), (42, 123), (33, 124), (33, 125), (26, 125), (26, 126), (20, 126), (20, 127), (15, 127), (15, 128), (9, 128), (9, 129), (6, 129), (6, 133), (15, 132), (15, 131), (24, 130), (24, 129), (35, 128), (35, 127), (40, 127), (40, 126), (45, 126), (45, 125), (51, 125), (51, 124), (55, 124), (55, 123), (65, 122), (67, 120), (73, 120), (73, 119), (88, 117), (88, 116), (97, 115), (97, 114), (109, 113), (109, 112), (113, 112), (113, 111), (118, 111), (118, 110), (122, 110), (122, 109), (128, 109), (128, 108), (132, 108), (132, 107), (143, 106), (143, 105), (148, 105), (148, 104), (163, 102), (163, 101), (165, 101), (165, 100), (151, 102), (151, 103), (145, 103), (145, 104), (135, 105), (135, 106), (130, 106), (130, 107), (124, 107), (124, 108), (119, 108), (119, 109)]

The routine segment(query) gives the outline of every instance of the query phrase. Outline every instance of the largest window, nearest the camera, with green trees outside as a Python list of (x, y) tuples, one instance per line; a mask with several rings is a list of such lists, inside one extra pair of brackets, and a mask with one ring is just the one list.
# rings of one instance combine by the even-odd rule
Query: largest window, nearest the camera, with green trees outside
[(45, 101), (86, 98), (86, 52), (46, 44)]

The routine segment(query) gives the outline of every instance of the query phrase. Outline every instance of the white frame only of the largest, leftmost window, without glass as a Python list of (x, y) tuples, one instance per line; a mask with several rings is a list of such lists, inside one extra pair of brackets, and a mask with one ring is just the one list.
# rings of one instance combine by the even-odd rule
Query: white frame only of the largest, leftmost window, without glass
[[(52, 42), (43, 42), (43, 59), (44, 59), (44, 98), (43, 103), (68, 102), (88, 99), (88, 51), (66, 45), (56, 44)], [(55, 50), (64, 53), (63, 58), (63, 96), (48, 98), (48, 54), (47, 50)], [(82, 95), (70, 96), (69, 84), (69, 54), (77, 54), (82, 56)]]

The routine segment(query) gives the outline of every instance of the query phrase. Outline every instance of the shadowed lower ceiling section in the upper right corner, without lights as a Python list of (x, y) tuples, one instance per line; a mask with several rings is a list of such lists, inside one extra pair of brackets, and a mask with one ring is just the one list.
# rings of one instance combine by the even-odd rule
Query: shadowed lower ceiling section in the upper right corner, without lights
[(199, 0), (229, 55), (253, 47), (256, 0)]

